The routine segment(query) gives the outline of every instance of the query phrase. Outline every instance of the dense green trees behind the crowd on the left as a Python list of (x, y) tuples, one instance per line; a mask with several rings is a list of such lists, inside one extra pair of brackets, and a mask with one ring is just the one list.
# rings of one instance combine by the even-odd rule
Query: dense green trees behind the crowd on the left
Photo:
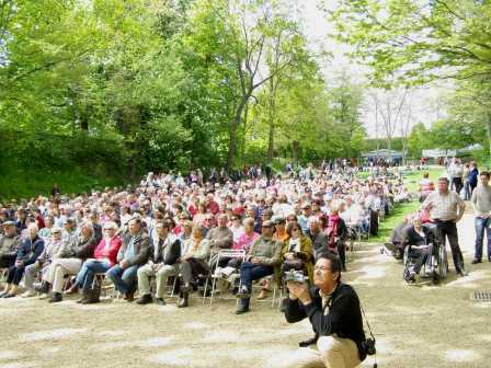
[(103, 139), (133, 174), (356, 156), (361, 87), (324, 80), (290, 5), (2, 0), (0, 129)]

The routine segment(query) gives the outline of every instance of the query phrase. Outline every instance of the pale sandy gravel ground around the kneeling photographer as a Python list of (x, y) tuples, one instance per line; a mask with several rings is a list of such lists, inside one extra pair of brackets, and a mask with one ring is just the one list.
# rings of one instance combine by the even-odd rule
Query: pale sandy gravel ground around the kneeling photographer
[[(491, 263), (470, 266), (473, 220), (459, 223), (468, 277), (441, 286), (402, 281), (402, 265), (362, 244), (343, 279), (359, 294), (377, 337), (379, 367), (491, 367), (491, 303), (470, 301), (491, 291)], [(270, 303), (236, 315), (235, 301), (187, 309), (124, 301), (56, 306), (0, 300), (0, 368), (7, 367), (262, 367), (311, 335), (309, 323), (287, 324)], [(373, 365), (368, 358), (364, 367)], [(274, 367), (275, 365), (270, 365)]]

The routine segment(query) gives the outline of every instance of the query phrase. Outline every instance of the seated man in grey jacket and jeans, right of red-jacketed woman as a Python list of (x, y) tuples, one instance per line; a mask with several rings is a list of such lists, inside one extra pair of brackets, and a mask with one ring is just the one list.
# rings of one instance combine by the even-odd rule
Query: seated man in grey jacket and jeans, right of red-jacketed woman
[(123, 244), (117, 252), (118, 264), (107, 271), (107, 277), (127, 301), (133, 301), (138, 267), (147, 263), (149, 251), (150, 239), (144, 232), (141, 220), (133, 218), (128, 222), (128, 231), (123, 235)]

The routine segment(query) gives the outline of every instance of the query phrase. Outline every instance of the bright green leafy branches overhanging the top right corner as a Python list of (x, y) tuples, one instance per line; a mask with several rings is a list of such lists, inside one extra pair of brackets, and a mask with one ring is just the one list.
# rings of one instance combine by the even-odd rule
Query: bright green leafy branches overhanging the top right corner
[(343, 0), (330, 19), (374, 82), (420, 84), (489, 74), (490, 15), (488, 1)]

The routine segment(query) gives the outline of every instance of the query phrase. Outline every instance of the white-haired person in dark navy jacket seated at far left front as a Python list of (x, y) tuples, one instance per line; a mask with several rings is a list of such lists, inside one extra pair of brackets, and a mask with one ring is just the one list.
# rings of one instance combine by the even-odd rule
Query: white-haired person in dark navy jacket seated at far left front
[(37, 258), (44, 251), (44, 240), (37, 235), (37, 225), (30, 223), (27, 227), (28, 237), (22, 241), (18, 256), (13, 266), (9, 268), (7, 285), (1, 298), (15, 297), (19, 291), (19, 284), (24, 276), (25, 267), (36, 263)]

